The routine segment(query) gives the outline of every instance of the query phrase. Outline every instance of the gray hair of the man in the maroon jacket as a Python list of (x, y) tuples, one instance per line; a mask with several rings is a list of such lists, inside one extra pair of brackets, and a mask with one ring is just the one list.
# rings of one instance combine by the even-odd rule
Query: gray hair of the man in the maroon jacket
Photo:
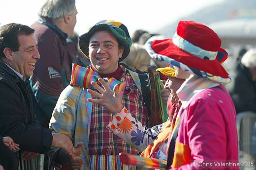
[(40, 8), (38, 15), (53, 20), (60, 20), (66, 15), (72, 15), (75, 0), (47, 0)]

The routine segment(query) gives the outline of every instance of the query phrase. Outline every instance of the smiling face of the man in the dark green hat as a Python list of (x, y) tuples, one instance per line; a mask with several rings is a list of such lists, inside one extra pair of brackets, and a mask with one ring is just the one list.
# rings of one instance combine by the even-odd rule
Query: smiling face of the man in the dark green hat
[(123, 52), (124, 48), (118, 47), (117, 39), (110, 31), (97, 31), (90, 38), (89, 58), (99, 73), (115, 72)]

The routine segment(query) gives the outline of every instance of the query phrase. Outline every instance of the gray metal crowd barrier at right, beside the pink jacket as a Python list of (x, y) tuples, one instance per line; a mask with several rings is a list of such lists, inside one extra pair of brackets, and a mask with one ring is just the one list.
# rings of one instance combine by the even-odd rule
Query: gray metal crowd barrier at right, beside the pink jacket
[[(256, 113), (241, 112), (237, 114), (240, 170), (256, 170)], [(253, 166), (242, 166), (253, 162)]]

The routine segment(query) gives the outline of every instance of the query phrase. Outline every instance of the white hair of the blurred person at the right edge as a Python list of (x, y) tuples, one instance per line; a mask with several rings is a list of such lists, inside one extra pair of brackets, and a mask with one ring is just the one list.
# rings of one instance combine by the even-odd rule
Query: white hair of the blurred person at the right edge
[(247, 51), (243, 55), (241, 63), (247, 68), (256, 68), (256, 49), (250, 49)]

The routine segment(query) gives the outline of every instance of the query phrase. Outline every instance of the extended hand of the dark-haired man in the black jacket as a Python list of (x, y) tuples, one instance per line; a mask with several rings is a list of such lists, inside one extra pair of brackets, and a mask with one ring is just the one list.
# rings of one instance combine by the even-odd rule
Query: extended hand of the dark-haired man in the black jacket
[(71, 155), (73, 152), (73, 144), (71, 140), (64, 134), (53, 133), (53, 147), (64, 148), (64, 150)]

